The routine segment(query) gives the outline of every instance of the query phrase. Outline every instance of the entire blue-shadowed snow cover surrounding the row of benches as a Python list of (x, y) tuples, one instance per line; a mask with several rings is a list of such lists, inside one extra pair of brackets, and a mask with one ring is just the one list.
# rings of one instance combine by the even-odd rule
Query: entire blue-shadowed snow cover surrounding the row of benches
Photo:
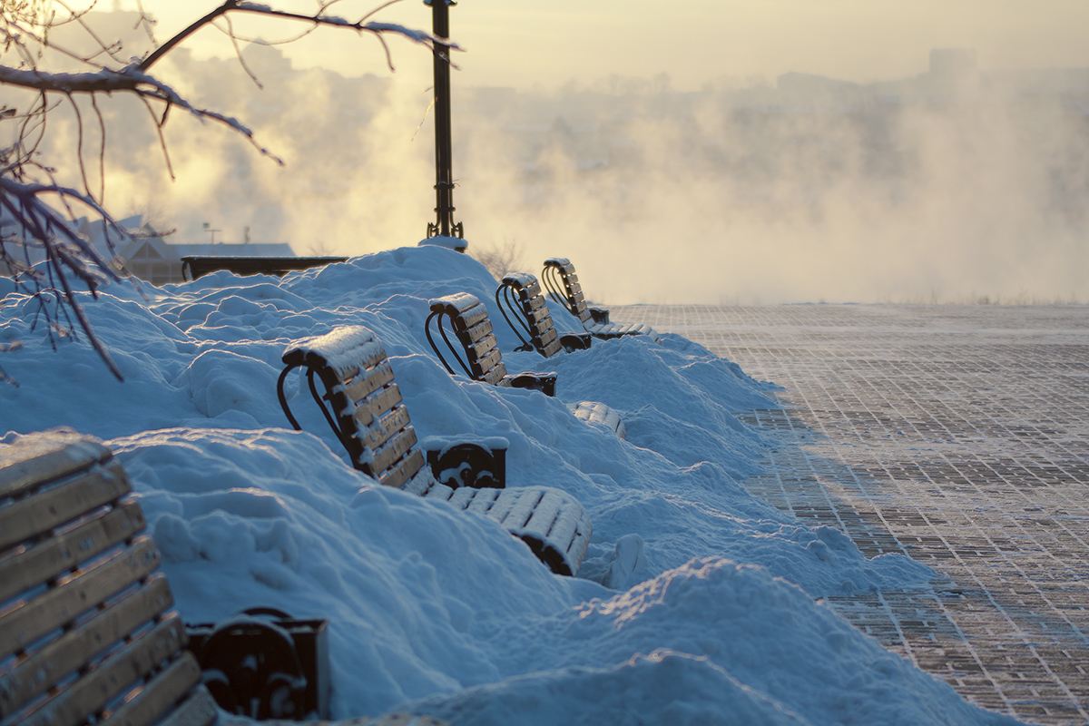
[[(562, 253), (563, 250), (556, 250)], [(866, 559), (746, 492), (776, 445), (732, 411), (769, 383), (676, 335), (596, 341), (544, 360), (517, 344), (472, 258), (406, 247), (274, 278), (219, 272), (162, 288), (112, 284), (85, 341), (53, 352), (38, 304), (0, 279), (0, 441), (69, 426), (134, 480), (178, 610), (253, 605), (330, 620), (337, 717), (391, 710), (453, 724), (1013, 724), (882, 649), (820, 601), (927, 587), (901, 555)], [(554, 371), (555, 398), (449, 376), (424, 334), (428, 299), (489, 305), (512, 372)], [(577, 321), (556, 306), (561, 330)], [(299, 378), (293, 340), (363, 324), (386, 345), (420, 436), (501, 436), (507, 485), (574, 494), (594, 521), (577, 578), (554, 576), (495, 522), (378, 487), (351, 468)], [(303, 386), (305, 389), (305, 384)], [(627, 439), (563, 402), (617, 409)], [(622, 562), (643, 550), (634, 571)]]

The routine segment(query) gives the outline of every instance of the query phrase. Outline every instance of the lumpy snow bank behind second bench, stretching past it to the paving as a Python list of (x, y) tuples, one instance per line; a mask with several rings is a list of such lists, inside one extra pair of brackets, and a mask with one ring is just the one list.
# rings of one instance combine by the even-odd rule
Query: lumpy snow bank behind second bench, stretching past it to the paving
[[(276, 382), (284, 348), (297, 337), (363, 324), (391, 356), (421, 436), (506, 439), (510, 485), (559, 487), (586, 506), (595, 536), (584, 577), (626, 587), (710, 555), (763, 565), (813, 596), (930, 577), (896, 555), (867, 561), (846, 538), (818, 536), (749, 495), (738, 482), (759, 470), (767, 442), (732, 411), (774, 404), (760, 384), (695, 344), (633, 336), (548, 360), (507, 355), (512, 371), (555, 372), (555, 398), (448, 374), (424, 333), (428, 299), (464, 290), (493, 306), (497, 285), (481, 264), (441, 247), (380, 253), (282, 281), (219, 272), (163, 288), (113, 284), (86, 310), (124, 383), (103, 376), (83, 343), (62, 341), (60, 355), (50, 353), (32, 332), (38, 303), (9, 295), (3, 334), (26, 346), (4, 361), (25, 381), (5, 392), (20, 411), (8, 426), (66, 424), (103, 439), (173, 427), (281, 428), (286, 419)], [(514, 347), (517, 339), (499, 311), (491, 318), (500, 341)], [(50, 395), (40, 395), (34, 381), (48, 381)], [(286, 393), (304, 430), (326, 442), (326, 455), (346, 460), (302, 374), (287, 379)], [(620, 411), (628, 440), (575, 419), (564, 402), (580, 399)], [(609, 575), (616, 542), (633, 533), (645, 543), (644, 556), (629, 578), (617, 580)]]

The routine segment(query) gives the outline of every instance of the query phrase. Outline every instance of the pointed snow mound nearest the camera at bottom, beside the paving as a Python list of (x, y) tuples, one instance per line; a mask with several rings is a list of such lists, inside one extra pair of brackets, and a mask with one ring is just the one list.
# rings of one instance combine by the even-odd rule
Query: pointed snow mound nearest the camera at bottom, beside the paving
[[(518, 723), (558, 726), (1018, 723), (960, 701), (798, 588), (720, 557), (546, 628), (541, 640), (564, 651), (560, 667), (413, 705), (465, 724), (499, 724), (519, 709), (534, 716)], [(537, 715), (533, 704), (550, 697), (556, 710)]]

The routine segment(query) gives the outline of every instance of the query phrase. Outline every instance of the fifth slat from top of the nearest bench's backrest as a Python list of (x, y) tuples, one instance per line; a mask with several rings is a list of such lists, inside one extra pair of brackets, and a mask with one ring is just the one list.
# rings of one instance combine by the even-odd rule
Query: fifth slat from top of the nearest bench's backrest
[(166, 577), (154, 575), (145, 587), (0, 675), (0, 713), (14, 713), (172, 604)]

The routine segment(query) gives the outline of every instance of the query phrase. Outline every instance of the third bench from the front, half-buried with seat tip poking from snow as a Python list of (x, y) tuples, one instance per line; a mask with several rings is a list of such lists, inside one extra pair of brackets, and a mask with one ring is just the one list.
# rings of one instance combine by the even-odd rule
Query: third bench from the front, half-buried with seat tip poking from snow
[[(541, 299), (543, 302), (543, 298)], [(430, 302), (430, 305), (431, 315), (428, 316), (427, 322), (425, 323), (427, 340), (431, 344), (431, 349), (435, 350), (435, 354), (439, 357), (439, 360), (442, 361), (442, 365), (445, 366), (446, 370), (450, 371), (451, 376), (455, 376), (456, 373), (454, 372), (453, 367), (446, 362), (445, 357), (442, 355), (442, 350), (435, 343), (435, 336), (431, 334), (432, 322), (436, 328), (438, 328), (442, 340), (445, 342), (446, 347), (450, 350), (450, 354), (457, 359), (457, 362), (461, 364), (462, 370), (465, 371), (465, 374), (474, 381), (482, 381), (485, 383), (491, 383), (492, 385), (505, 385), (517, 389), (533, 389), (541, 391), (548, 396), (555, 395), (556, 377), (553, 374), (507, 374), (506, 366), (503, 365), (503, 355), (499, 350), (499, 345), (495, 342), (495, 335), (492, 332), (493, 329), (491, 325), (491, 319), (488, 317), (488, 308), (486, 308), (475, 295), (470, 295), (469, 293), (456, 293), (454, 295), (436, 298)], [(547, 307), (544, 309), (546, 311), (548, 310)], [(555, 332), (555, 327), (551, 324), (551, 318), (548, 318), (547, 325)], [(450, 336), (446, 334), (448, 328), (453, 331), (454, 336), (461, 343), (460, 347), (465, 356), (465, 360), (462, 359), (462, 356), (457, 352), (458, 346), (455, 346), (451, 342)], [(544, 347), (546, 349), (552, 350), (554, 354), (560, 349), (560, 347), (554, 347), (551, 343), (558, 339), (548, 340), (549, 343)], [(559, 343), (556, 345), (559, 345)], [(566, 406), (576, 418), (590, 423), (607, 426), (617, 436), (621, 439), (624, 438), (624, 423), (621, 421), (620, 415), (612, 408), (605, 406), (603, 403), (596, 401), (583, 401), (577, 404), (566, 404)]]

